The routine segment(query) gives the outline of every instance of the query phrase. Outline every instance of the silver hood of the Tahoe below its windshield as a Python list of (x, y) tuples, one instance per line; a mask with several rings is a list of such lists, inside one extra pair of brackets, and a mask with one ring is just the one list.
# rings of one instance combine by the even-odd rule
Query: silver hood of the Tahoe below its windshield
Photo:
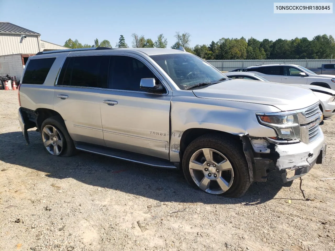
[(319, 101), (313, 92), (306, 88), (243, 79), (226, 80), (193, 90), (193, 93), (199, 98), (272, 105), (282, 111), (302, 109)]

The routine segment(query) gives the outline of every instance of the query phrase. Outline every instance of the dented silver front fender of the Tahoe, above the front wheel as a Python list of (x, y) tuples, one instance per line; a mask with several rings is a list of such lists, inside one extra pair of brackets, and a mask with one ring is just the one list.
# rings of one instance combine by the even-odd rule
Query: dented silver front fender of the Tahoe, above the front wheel
[(185, 91), (174, 91), (171, 99), (170, 160), (172, 162), (180, 161), (181, 138), (186, 130), (192, 128), (211, 129), (239, 136), (277, 136), (272, 128), (262, 126), (256, 117), (257, 112), (280, 112), (274, 106), (198, 98), (194, 95), (185, 97), (183, 92)]

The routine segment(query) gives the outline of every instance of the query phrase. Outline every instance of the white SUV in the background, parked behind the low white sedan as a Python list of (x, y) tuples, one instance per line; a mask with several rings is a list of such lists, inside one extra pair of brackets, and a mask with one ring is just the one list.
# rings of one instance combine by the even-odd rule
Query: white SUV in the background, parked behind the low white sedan
[(299, 65), (256, 65), (248, 67), (247, 72), (256, 73), (272, 82), (285, 84), (318, 85), (335, 90), (334, 75), (319, 75)]

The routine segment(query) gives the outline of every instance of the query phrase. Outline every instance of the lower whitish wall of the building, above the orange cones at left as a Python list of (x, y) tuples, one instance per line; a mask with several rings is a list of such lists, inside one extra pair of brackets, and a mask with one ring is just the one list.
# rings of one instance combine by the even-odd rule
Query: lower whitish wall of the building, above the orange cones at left
[(16, 76), (17, 81), (21, 79), (23, 72), (21, 54), (0, 56), (0, 76), (9, 74)]

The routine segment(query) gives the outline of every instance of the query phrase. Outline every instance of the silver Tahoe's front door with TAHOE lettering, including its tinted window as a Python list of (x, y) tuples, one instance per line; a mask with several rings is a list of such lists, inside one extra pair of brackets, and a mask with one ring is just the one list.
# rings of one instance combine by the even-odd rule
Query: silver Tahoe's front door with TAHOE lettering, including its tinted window
[(111, 148), (169, 159), (172, 92), (165, 87), (160, 94), (141, 90), (141, 78), (160, 80), (158, 73), (139, 59), (111, 56), (109, 89), (100, 100), (104, 140)]

